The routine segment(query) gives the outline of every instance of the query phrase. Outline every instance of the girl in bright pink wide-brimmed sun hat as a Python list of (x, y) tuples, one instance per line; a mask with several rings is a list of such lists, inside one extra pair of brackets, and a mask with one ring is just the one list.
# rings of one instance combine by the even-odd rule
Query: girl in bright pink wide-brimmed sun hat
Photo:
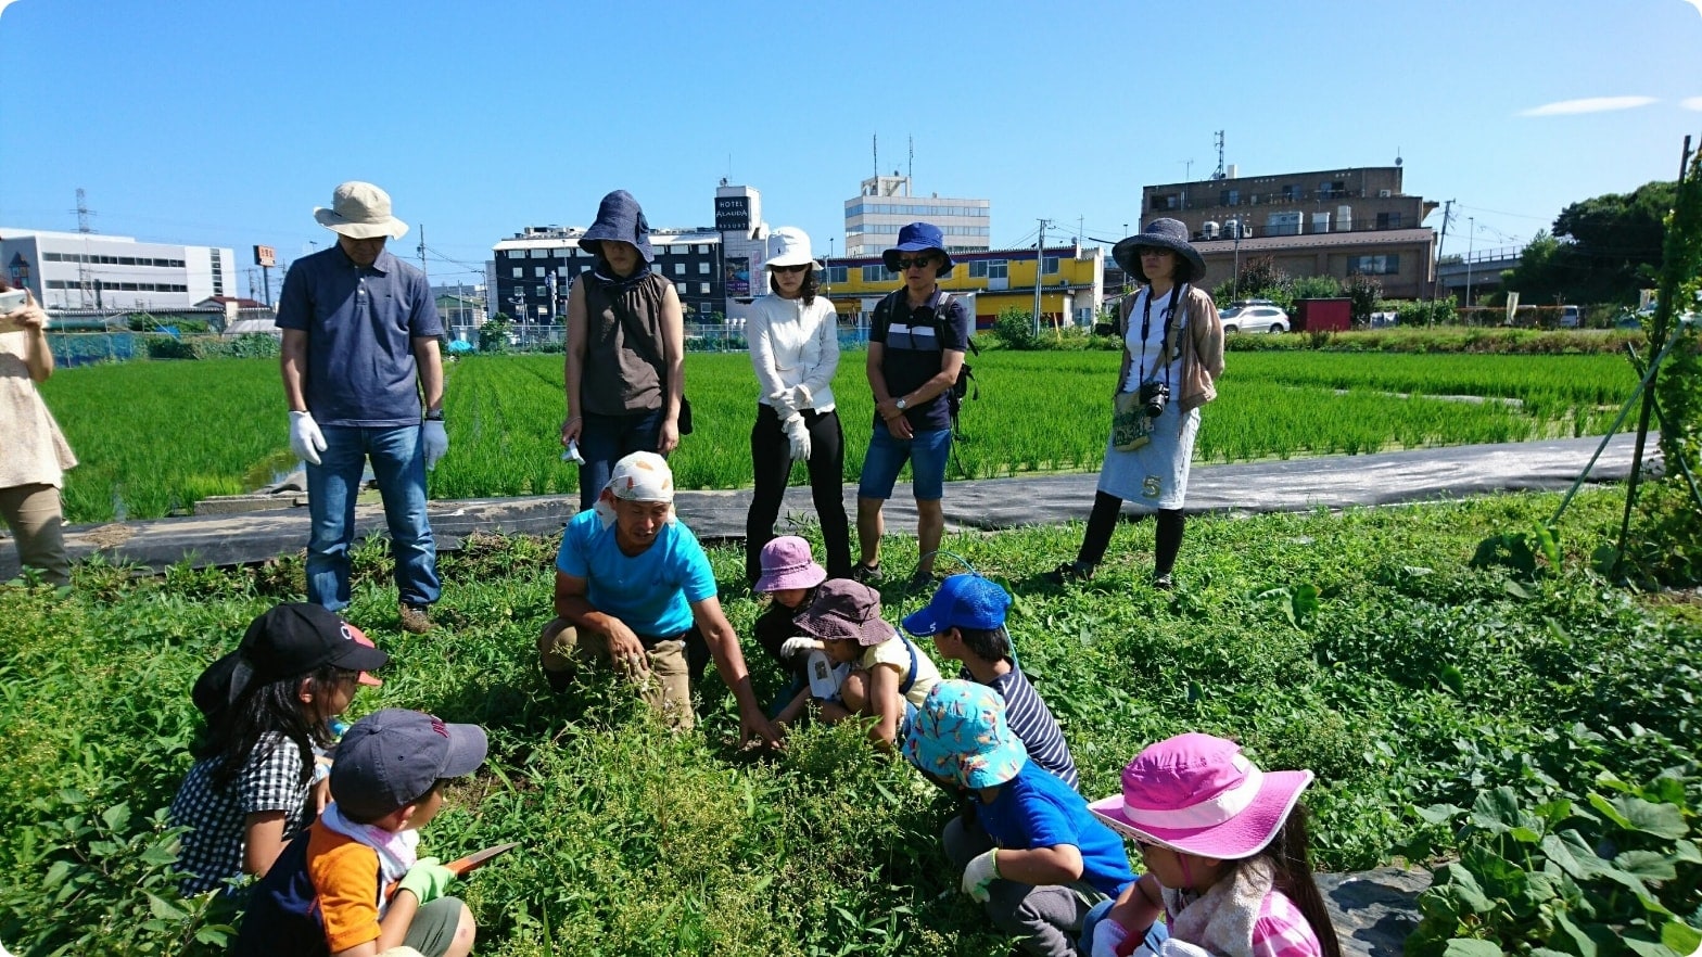
[[(1082, 925), (1093, 957), (1341, 957), (1312, 879), (1300, 792), (1312, 771), (1261, 771), (1232, 741), (1178, 734), (1123, 768), (1123, 790), (1088, 807), (1140, 846), (1145, 874)], [(1151, 952), (1151, 948), (1147, 948)]]

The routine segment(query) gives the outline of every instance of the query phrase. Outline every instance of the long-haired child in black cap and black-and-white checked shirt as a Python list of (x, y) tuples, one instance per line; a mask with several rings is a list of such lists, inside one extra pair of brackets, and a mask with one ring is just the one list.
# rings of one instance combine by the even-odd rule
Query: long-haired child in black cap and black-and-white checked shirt
[(317, 811), (313, 749), (332, 746), (330, 722), (388, 662), (335, 613), (300, 603), (255, 618), (242, 645), (201, 673), (194, 702), (206, 729), (170, 809), (172, 826), (189, 828), (184, 894), (272, 867)]

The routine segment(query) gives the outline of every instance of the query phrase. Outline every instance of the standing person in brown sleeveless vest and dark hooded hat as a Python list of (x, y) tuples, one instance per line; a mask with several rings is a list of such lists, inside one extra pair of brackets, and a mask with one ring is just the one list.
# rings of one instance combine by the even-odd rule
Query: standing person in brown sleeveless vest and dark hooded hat
[(650, 225), (630, 192), (603, 198), (579, 249), (597, 266), (567, 296), (562, 444), (579, 443), (584, 511), (623, 456), (679, 446), (686, 322), (674, 284), (650, 269)]

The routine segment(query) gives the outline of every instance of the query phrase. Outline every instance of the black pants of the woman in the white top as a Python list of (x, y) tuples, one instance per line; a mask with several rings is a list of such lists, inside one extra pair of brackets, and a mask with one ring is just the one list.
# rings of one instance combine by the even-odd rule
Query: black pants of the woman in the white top
[[(827, 576), (851, 576), (851, 523), (846, 519), (844, 468), (846, 436), (839, 415), (807, 409), (803, 424), (810, 429), (810, 496), (822, 523), (822, 542), (827, 545)], [(745, 513), (745, 581), (762, 574), (762, 547), (774, 540), (774, 523), (780, 504), (786, 497), (786, 480), (791, 477), (791, 443), (780, 424), (773, 405), (757, 404), (756, 424), (751, 426), (751, 468), (756, 473), (756, 490), (751, 511)]]

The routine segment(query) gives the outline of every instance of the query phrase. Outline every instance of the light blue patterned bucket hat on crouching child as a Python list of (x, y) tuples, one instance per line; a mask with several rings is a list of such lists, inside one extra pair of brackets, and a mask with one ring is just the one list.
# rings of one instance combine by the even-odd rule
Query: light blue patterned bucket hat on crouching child
[(904, 736), (904, 756), (922, 771), (970, 788), (1002, 785), (1028, 763), (1004, 720), (1004, 698), (975, 681), (934, 685)]

